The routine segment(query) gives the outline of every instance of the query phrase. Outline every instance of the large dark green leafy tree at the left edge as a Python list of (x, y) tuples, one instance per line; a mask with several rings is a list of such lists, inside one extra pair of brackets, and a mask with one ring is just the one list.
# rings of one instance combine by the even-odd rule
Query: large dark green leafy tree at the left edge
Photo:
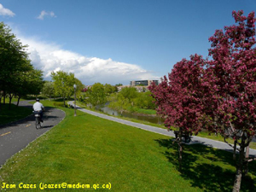
[(34, 70), (26, 47), (11, 33), (9, 26), (0, 23), (0, 99), (3, 97), (5, 103), (5, 97), (9, 96), (9, 107), (13, 96), (20, 92), (21, 88), (26, 89), (22, 84), (25, 74)]

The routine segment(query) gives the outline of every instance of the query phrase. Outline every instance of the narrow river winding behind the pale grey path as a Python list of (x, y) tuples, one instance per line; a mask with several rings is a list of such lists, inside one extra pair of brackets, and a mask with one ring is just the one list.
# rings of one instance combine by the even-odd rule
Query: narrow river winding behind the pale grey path
[[(121, 113), (119, 113), (118, 111), (112, 108), (108, 108), (108, 103), (104, 107), (97, 106), (96, 109), (102, 111), (103, 113), (108, 113), (113, 116), (121, 116)], [(123, 112), (122, 116), (127, 118), (132, 118), (132, 119), (144, 120), (144, 121), (148, 121), (150, 123), (159, 124), (159, 125), (164, 123), (164, 119), (161, 119), (160, 117), (153, 116), (153, 115)]]

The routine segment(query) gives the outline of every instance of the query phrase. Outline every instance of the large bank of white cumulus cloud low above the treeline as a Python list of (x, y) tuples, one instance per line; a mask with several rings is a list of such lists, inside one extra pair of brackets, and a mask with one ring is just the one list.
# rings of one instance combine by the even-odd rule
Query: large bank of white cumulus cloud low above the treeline
[(83, 84), (129, 84), (131, 80), (159, 79), (138, 65), (112, 59), (79, 55), (62, 49), (58, 44), (43, 42), (37, 38), (19, 37), (23, 44), (28, 44), (32, 64), (44, 71), (44, 78), (50, 79), (52, 71), (74, 73)]

